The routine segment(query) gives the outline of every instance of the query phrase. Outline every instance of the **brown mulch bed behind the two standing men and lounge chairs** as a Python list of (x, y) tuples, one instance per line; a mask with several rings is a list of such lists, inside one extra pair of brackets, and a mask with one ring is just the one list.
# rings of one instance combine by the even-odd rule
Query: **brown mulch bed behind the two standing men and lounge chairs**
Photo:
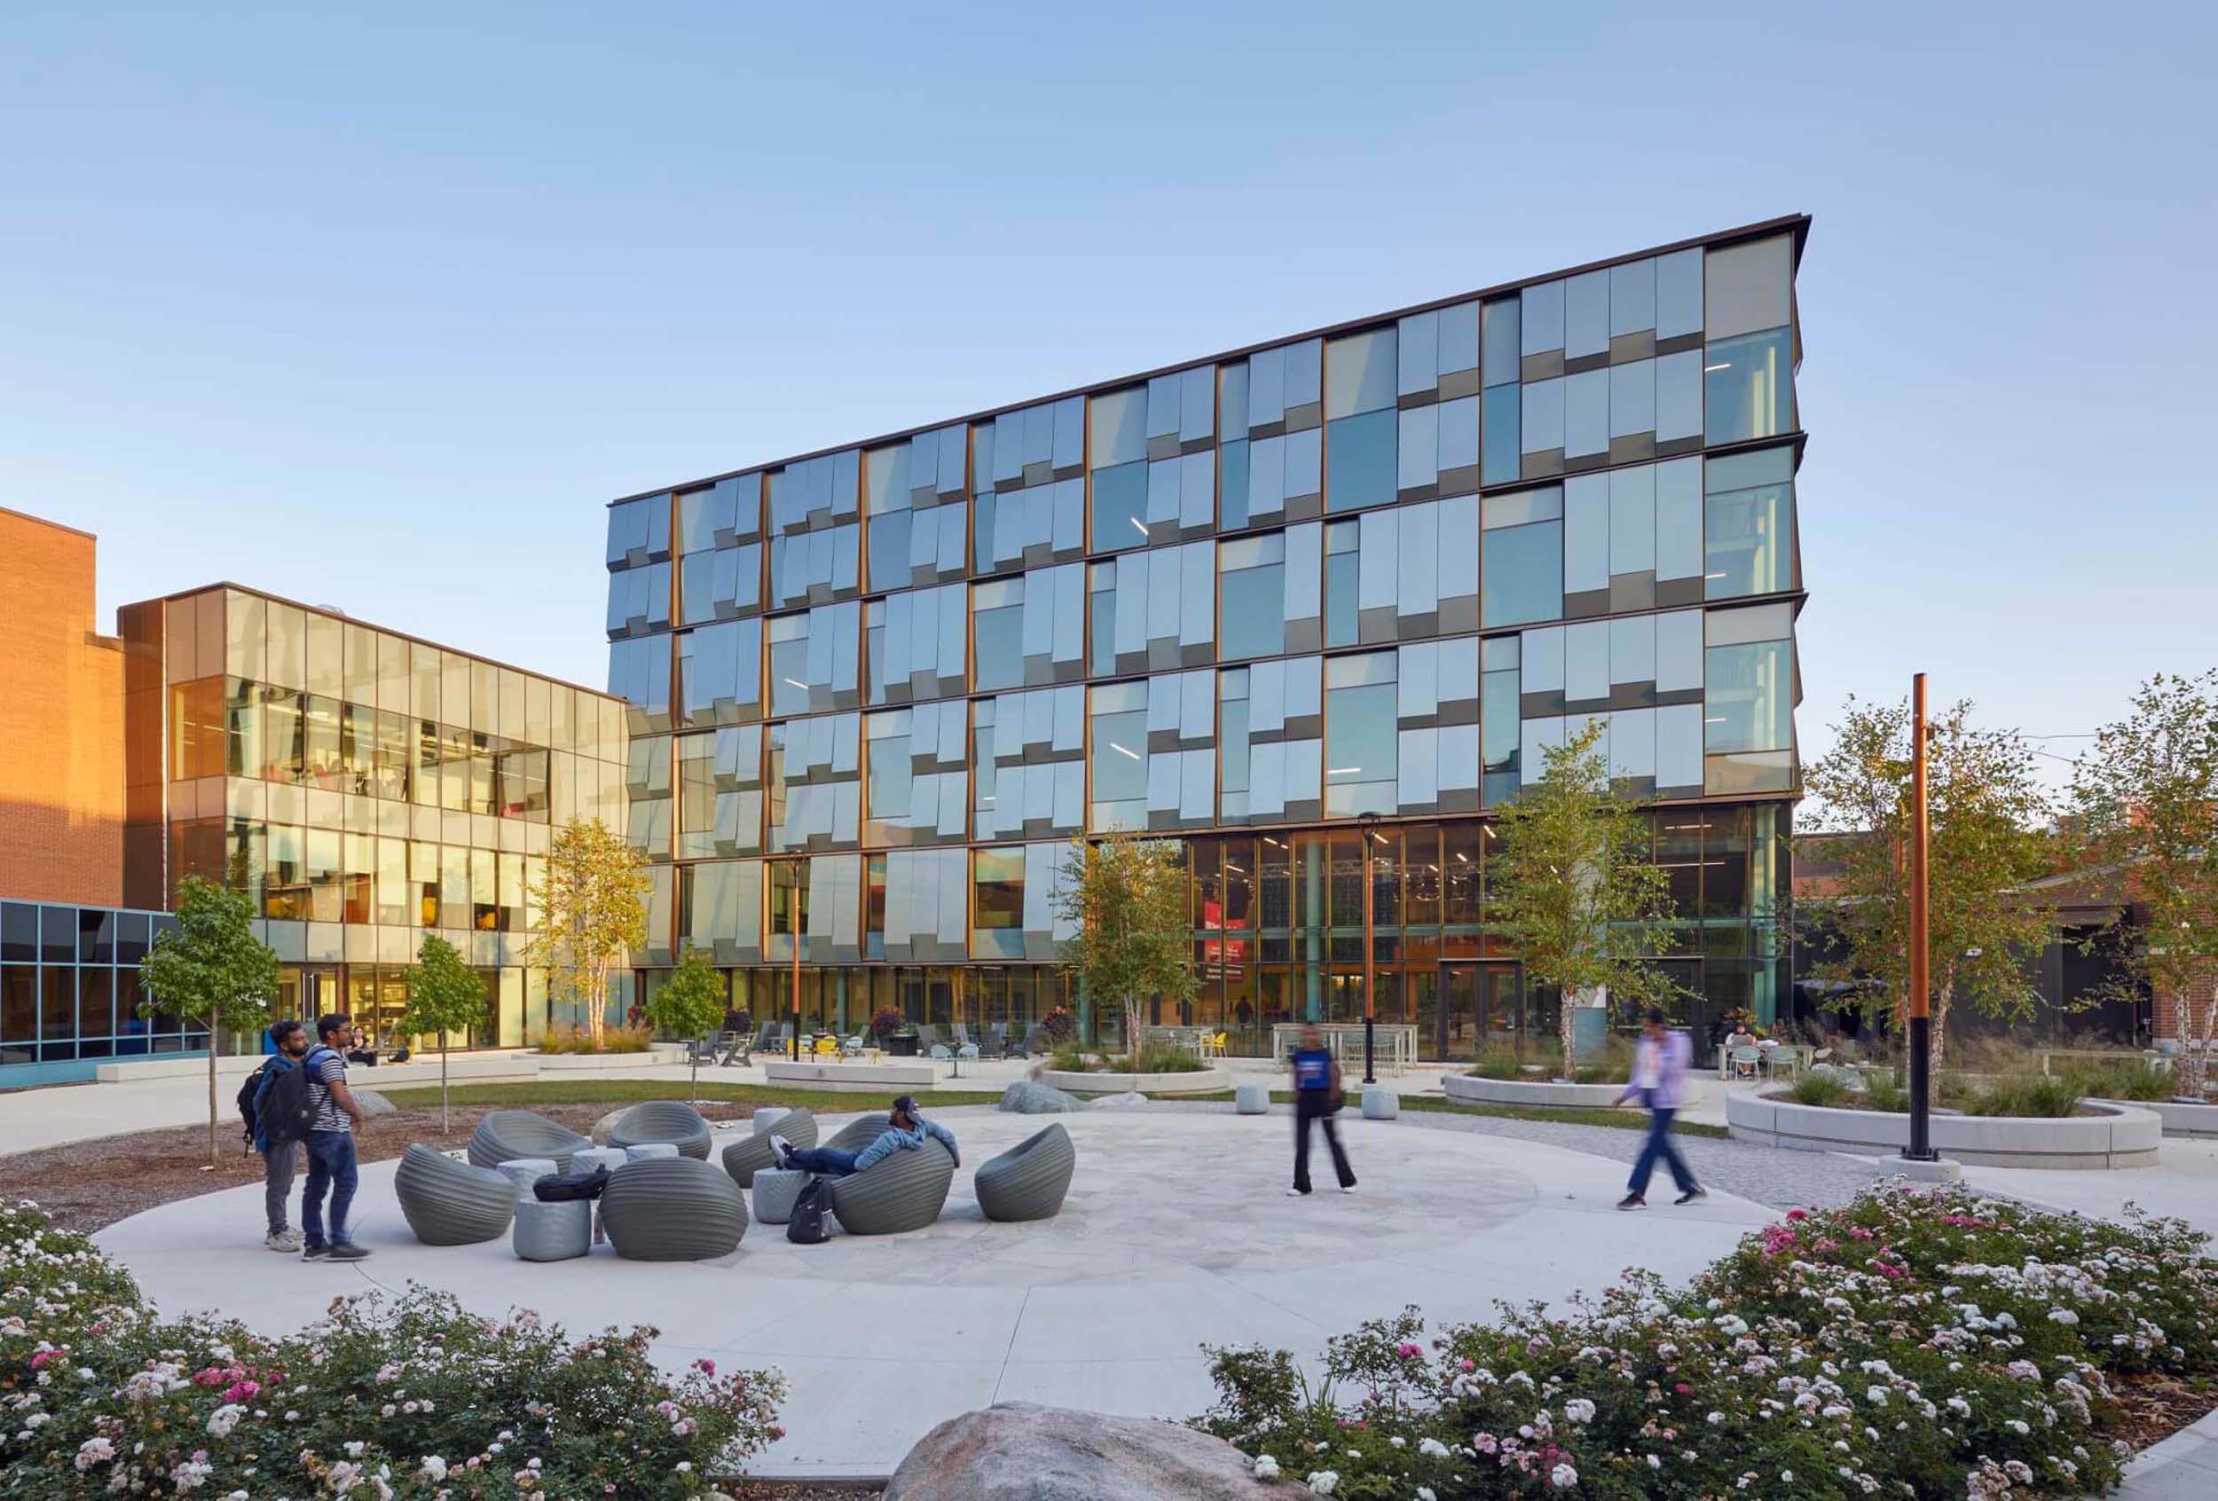
[[(441, 1151), (468, 1146), (470, 1131), (477, 1129), (486, 1109), (455, 1106), (446, 1135), (439, 1133), (439, 1111), (373, 1115), (355, 1133), (355, 1151), (362, 1155), (362, 1162), (381, 1162), (399, 1157), (413, 1142), (439, 1146)], [(541, 1115), (559, 1120), (572, 1131), (592, 1131), (592, 1124), (614, 1109), (623, 1106), (537, 1106)], [(754, 1115), (754, 1106), (705, 1100), (701, 1102), (701, 1113), (710, 1120), (743, 1120)], [(217, 1126), (217, 1166), (213, 1168), (208, 1166), (206, 1126), (135, 1131), (98, 1142), (47, 1146), (33, 1153), (0, 1157), (0, 1195), (33, 1199), (64, 1231), (91, 1235), (157, 1204), (262, 1182), (262, 1157), (240, 1153), (237, 1115), (226, 1115)], [(257, 1202), (240, 1233), (260, 1235), (260, 1222), (262, 1206)]]

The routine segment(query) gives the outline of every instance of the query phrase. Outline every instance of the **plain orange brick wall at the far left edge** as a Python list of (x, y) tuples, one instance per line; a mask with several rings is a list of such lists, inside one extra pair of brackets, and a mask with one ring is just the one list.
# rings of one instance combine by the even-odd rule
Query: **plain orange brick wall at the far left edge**
[(91, 534), (0, 510), (0, 896), (122, 902), (122, 721)]

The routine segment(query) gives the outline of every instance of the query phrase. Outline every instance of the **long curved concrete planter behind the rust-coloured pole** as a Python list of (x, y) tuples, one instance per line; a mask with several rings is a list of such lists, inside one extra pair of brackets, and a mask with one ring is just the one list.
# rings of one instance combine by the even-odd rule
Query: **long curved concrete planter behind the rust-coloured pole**
[[(1943, 1157), (1992, 1168), (2154, 1168), (2163, 1122), (2131, 1104), (2087, 1104), (2089, 1115), (2021, 1120), (1934, 1115), (1932, 1144)], [(1841, 1151), (1885, 1157), (1910, 1146), (1910, 1115), (1839, 1111), (1757, 1093), (1726, 1095), (1734, 1140), (1788, 1151)]]

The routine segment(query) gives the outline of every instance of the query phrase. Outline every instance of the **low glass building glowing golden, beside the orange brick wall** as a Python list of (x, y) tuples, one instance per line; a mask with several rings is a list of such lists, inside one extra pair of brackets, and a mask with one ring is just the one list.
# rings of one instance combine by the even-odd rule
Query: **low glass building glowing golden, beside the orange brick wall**
[(275, 1013), (346, 1011), (375, 1046), (428, 931), (488, 978), (470, 1044), (577, 1020), (523, 967), (530, 891), (557, 825), (623, 827), (619, 701), (228, 583), (118, 623), (131, 905), (189, 874), (251, 891)]

